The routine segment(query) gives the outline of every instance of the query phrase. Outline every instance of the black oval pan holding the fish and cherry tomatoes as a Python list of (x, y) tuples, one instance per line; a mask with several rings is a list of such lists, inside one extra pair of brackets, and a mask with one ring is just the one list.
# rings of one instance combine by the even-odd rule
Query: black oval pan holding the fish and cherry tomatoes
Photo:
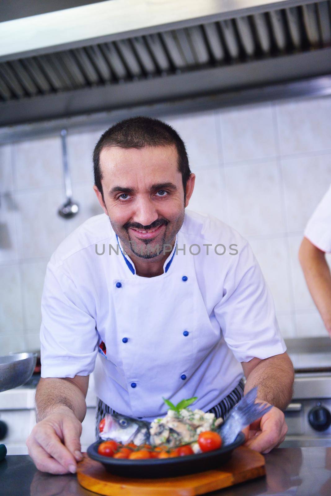
[(98, 446), (103, 441), (96, 441), (87, 448), (87, 454), (101, 462), (105, 470), (121, 477), (146, 477), (149, 479), (160, 477), (183, 476), (204, 470), (211, 470), (225, 463), (232, 451), (240, 446), (245, 436), (240, 432), (235, 441), (213, 451), (194, 455), (178, 456), (176, 458), (129, 460), (111, 458), (99, 455)]

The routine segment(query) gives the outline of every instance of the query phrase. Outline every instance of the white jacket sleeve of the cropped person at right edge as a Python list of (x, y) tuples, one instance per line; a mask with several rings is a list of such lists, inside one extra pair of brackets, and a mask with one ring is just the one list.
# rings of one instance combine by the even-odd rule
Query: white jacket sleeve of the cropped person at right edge
[(322, 251), (331, 252), (331, 185), (309, 219), (304, 236)]

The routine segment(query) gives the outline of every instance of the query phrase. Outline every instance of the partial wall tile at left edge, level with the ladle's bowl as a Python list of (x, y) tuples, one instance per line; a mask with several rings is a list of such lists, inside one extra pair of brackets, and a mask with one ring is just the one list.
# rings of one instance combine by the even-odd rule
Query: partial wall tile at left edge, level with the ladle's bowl
[(17, 260), (16, 208), (11, 192), (0, 195), (0, 263)]

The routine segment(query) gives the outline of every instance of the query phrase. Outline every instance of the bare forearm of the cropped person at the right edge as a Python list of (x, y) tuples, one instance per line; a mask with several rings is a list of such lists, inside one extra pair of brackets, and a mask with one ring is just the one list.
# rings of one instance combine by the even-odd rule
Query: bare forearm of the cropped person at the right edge
[(310, 294), (331, 333), (331, 273), (325, 253), (304, 238), (299, 249), (299, 261)]

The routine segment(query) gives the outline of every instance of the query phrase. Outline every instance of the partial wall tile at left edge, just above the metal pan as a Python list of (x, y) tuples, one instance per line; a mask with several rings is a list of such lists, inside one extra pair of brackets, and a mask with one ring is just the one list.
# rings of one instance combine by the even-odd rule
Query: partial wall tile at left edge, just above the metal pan
[(23, 329), (22, 298), (18, 265), (0, 267), (0, 332)]

